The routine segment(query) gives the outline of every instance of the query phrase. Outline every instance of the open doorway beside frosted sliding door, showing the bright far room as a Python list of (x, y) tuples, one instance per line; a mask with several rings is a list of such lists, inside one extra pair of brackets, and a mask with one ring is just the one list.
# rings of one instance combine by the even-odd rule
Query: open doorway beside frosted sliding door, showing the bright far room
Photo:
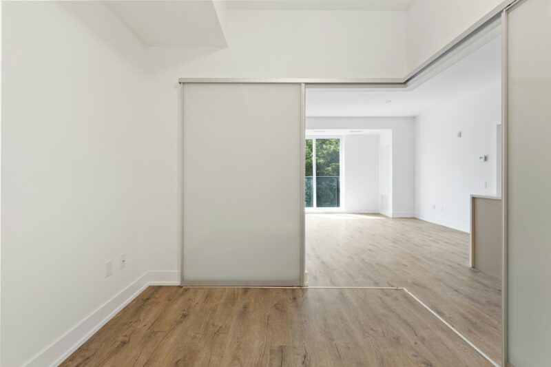
[[(497, 365), (499, 23), (436, 69), (405, 88), (306, 86), (309, 286), (405, 289)], [(309, 147), (329, 136), (340, 138), (340, 204), (318, 208)]]

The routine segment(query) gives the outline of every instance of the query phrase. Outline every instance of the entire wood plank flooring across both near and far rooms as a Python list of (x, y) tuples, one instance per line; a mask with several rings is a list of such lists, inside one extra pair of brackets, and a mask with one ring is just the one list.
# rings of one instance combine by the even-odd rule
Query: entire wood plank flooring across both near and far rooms
[(149, 286), (61, 366), (492, 366), (500, 282), (466, 233), (378, 215), (306, 216), (310, 289)]

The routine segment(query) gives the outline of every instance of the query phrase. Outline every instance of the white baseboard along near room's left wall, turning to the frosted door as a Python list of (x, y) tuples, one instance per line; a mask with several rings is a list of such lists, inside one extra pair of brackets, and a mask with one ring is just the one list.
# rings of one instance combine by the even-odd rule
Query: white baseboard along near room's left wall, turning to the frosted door
[(90, 339), (103, 325), (132, 302), (148, 286), (179, 285), (180, 271), (148, 271), (134, 280), (125, 289), (114, 295), (110, 300), (96, 308), (81, 322), (70, 328), (52, 344), (29, 359), (23, 366), (44, 367), (59, 366), (76, 349)]

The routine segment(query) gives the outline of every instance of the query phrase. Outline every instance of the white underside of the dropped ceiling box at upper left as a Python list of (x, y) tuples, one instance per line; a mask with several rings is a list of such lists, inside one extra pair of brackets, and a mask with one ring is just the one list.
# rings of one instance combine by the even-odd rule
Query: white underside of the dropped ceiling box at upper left
[(227, 46), (225, 8), (212, 0), (104, 3), (146, 46)]

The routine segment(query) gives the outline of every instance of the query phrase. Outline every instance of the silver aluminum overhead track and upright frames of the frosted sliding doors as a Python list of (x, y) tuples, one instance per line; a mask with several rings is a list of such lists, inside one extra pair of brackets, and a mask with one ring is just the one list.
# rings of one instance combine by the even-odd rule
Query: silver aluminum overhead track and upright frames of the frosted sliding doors
[[(501, 314), (502, 314), (502, 353), (501, 353), (501, 366), (508, 366), (507, 363), (507, 41), (508, 41), (508, 27), (507, 27), (507, 13), (512, 10), (519, 3), (526, 0), (505, 0), (499, 4), (496, 8), (488, 12), (483, 18), (481, 18), (477, 23), (473, 24), (468, 30), (459, 34), (453, 41), (448, 43), (444, 48), (441, 48), (436, 54), (434, 54), (430, 59), (428, 59), (422, 65), (419, 65), (415, 70), (410, 72), (404, 78), (180, 78), (178, 82), (182, 85), (180, 97), (183, 98), (183, 84), (184, 83), (298, 83), (301, 85), (302, 95), (301, 95), (301, 105), (302, 105), (302, 118), (301, 118), (301, 174), (300, 174), (300, 192), (302, 200), (302, 212), (300, 213), (300, 286), (306, 285), (306, 277), (304, 271), (306, 270), (306, 258), (305, 258), (305, 242), (304, 242), (304, 134), (305, 134), (305, 88), (306, 86), (322, 86), (327, 85), (329, 87), (339, 87), (339, 86), (351, 86), (351, 87), (380, 87), (380, 88), (406, 88), (408, 83), (413, 81), (415, 78), (422, 76), (427, 71), (432, 69), (438, 61), (444, 58), (451, 51), (455, 50), (462, 43), (465, 43), (472, 36), (477, 34), (482, 30), (486, 25), (492, 23), (501, 17), (501, 27), (502, 27), (502, 39), (503, 39), (503, 48), (502, 48), (502, 125), (503, 125), (503, 154), (502, 154), (502, 200), (503, 200), (503, 274), (501, 277)], [(183, 99), (182, 99), (183, 101)], [(182, 104), (183, 105), (183, 104)], [(183, 107), (182, 107), (183, 108)], [(180, 121), (183, 122), (183, 111), (180, 108)], [(183, 134), (183, 127), (182, 127)], [(180, 158), (183, 157), (183, 136), (182, 144), (180, 147)], [(183, 161), (183, 160), (182, 160)], [(181, 169), (180, 182), (183, 182), (183, 167)], [(183, 218), (183, 186), (181, 190), (182, 195), (182, 208), (181, 216)], [(180, 281), (182, 285), (185, 285), (183, 275), (183, 221), (180, 231), (180, 240), (181, 240), (181, 253), (180, 253)], [(493, 362), (493, 361), (492, 361)], [(495, 362), (494, 362), (495, 364)]]

